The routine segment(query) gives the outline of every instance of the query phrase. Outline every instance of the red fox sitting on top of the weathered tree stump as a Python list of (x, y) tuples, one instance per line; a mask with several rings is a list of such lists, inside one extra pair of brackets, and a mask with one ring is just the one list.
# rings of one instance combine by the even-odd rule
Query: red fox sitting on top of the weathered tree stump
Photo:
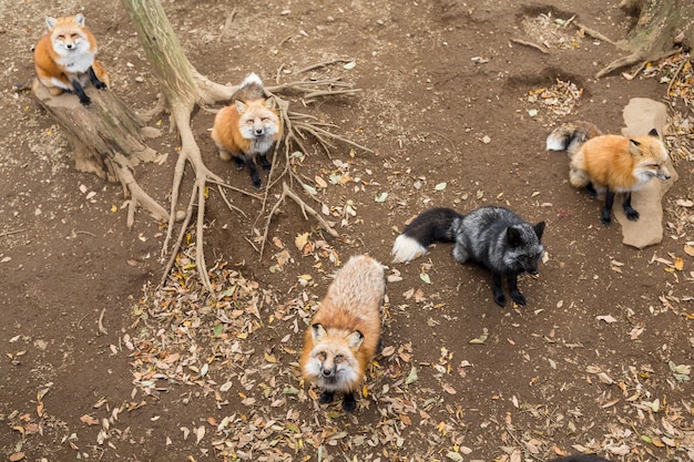
[(47, 18), (48, 32), (33, 51), (39, 81), (57, 96), (63, 91), (76, 93), (80, 103), (91, 104), (84, 93), (88, 81), (99, 90), (110, 85), (109, 74), (94, 59), (96, 39), (84, 25), (84, 16)]

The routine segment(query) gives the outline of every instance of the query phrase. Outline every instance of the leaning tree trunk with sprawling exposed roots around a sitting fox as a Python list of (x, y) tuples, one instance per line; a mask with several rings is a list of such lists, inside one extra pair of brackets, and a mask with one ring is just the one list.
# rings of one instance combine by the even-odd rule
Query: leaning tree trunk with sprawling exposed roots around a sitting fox
[[(297, 204), (299, 204), (299, 206), (304, 211), (305, 216), (306, 213), (308, 213), (314, 218), (316, 218), (324, 227), (326, 227), (328, 232), (331, 230), (330, 234), (336, 235), (336, 232), (330, 228), (327, 222), (312, 207), (305, 204), (304, 201), (300, 199), (300, 197), (292, 191), (294, 179), (298, 178), (296, 178), (295, 173), (290, 168), (290, 146), (296, 144), (304, 153), (307, 153), (307, 150), (303, 145), (303, 141), (306, 140), (307, 135), (312, 135), (315, 140), (318, 141), (318, 143), (326, 151), (326, 153), (329, 153), (328, 147), (331, 147), (331, 144), (329, 144), (329, 142), (327, 141), (328, 138), (339, 140), (349, 143), (356, 147), (364, 150), (366, 148), (357, 145), (356, 143), (351, 143), (348, 140), (345, 140), (337, 135), (333, 135), (330, 132), (325, 130), (320, 123), (315, 120), (310, 120), (304, 114), (289, 114), (288, 103), (277, 96), (274, 96), (277, 97), (280, 107), (280, 114), (285, 123), (284, 168), (278, 173), (276, 177), (274, 177), (274, 179), (273, 175), (277, 173), (277, 165), (275, 165), (275, 167), (271, 171), (271, 179), (268, 179), (264, 196), (253, 193), (246, 193), (232, 187), (231, 185), (226, 184), (218, 175), (211, 172), (203, 162), (200, 147), (195, 141), (195, 137), (193, 136), (193, 131), (191, 129), (191, 115), (196, 105), (206, 105), (214, 104), (220, 101), (228, 101), (236, 90), (236, 86), (221, 85), (218, 83), (214, 83), (200, 74), (193, 68), (193, 64), (191, 64), (191, 62), (185, 57), (181, 44), (178, 43), (175, 33), (173, 32), (173, 28), (171, 27), (171, 23), (169, 22), (166, 14), (164, 13), (161, 2), (143, 0), (122, 0), (122, 2), (133, 20), (133, 24), (135, 25), (135, 30), (137, 31), (137, 35), (140, 38), (140, 43), (142, 44), (145, 54), (147, 55), (147, 59), (153, 65), (154, 74), (162, 85), (162, 96), (160, 97), (157, 106), (149, 115), (153, 115), (156, 111), (161, 112), (161, 110), (164, 107), (164, 103), (166, 103), (166, 105), (171, 110), (171, 115), (173, 120), (172, 125), (176, 127), (178, 136), (181, 137), (181, 150), (178, 152), (178, 158), (176, 161), (174, 179), (172, 185), (169, 227), (162, 247), (162, 258), (164, 258), (166, 254), (170, 254), (169, 263), (162, 277), (162, 284), (164, 284), (165, 279), (169, 277), (171, 269), (173, 268), (175, 258), (181, 250), (181, 245), (183, 243), (184, 236), (187, 233), (188, 225), (192, 223), (193, 217), (195, 216), (195, 264), (197, 273), (200, 274), (200, 280), (202, 285), (207, 290), (213, 291), (207, 274), (207, 266), (205, 264), (204, 253), (204, 220), (206, 201), (205, 191), (208, 184), (217, 185), (217, 188), (224, 202), (227, 204), (227, 206), (229, 206), (229, 209), (234, 209), (243, 214), (243, 212), (239, 211), (237, 207), (233, 207), (231, 205), (229, 201), (225, 196), (225, 189), (233, 189), (256, 198), (262, 198), (262, 211), (266, 211), (271, 189), (274, 185), (278, 184), (278, 182), (282, 181), (283, 193), (280, 195), (279, 202), (284, 201), (285, 197), (292, 198)], [(229, 16), (229, 18), (227, 19), (227, 23), (225, 24), (225, 31), (228, 27), (231, 27), (229, 24), (233, 19), (234, 14)], [(223, 34), (225, 33), (225, 31), (223, 31)], [(323, 63), (319, 65), (327, 64)], [(268, 88), (267, 90), (268, 92), (299, 92), (303, 94), (304, 102), (308, 102), (316, 97), (322, 97), (326, 95), (354, 94), (359, 91), (358, 89), (353, 89), (351, 86), (353, 85), (337, 80), (324, 80), (292, 82), (284, 85)], [(190, 194), (188, 204), (185, 212), (183, 212), (178, 211), (178, 202), (181, 196), (181, 185), (185, 176), (186, 166), (188, 164), (193, 168), (193, 172), (195, 174), (195, 181), (193, 184), (193, 189)], [(266, 228), (264, 230), (265, 238), (268, 234), (267, 226), (269, 226), (272, 216), (274, 212), (276, 212), (279, 202), (275, 204), (275, 206), (273, 207), (273, 212), (267, 217)], [(171, 244), (175, 229), (175, 224), (178, 219), (182, 220), (181, 229), (178, 230), (175, 243)], [(263, 245), (265, 243), (263, 243)]]

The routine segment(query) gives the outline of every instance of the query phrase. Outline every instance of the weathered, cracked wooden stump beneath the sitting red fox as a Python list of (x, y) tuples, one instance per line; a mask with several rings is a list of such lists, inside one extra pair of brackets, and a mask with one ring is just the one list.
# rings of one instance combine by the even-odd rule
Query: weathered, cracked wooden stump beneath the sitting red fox
[(63, 129), (72, 146), (74, 166), (109, 182), (120, 182), (125, 197), (131, 197), (127, 227), (134, 222), (137, 205), (155, 219), (167, 220), (169, 212), (150, 197), (134, 178), (134, 168), (143, 162), (162, 162), (165, 156), (149, 147), (142, 135), (143, 124), (113, 92), (85, 89), (92, 100), (89, 107), (75, 94), (53, 96), (38, 80), (32, 91), (37, 101)]

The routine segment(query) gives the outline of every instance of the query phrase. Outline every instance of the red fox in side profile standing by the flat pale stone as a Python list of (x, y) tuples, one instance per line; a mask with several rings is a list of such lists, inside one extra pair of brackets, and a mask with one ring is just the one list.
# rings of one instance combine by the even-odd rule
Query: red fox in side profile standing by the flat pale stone
[(667, 151), (655, 129), (645, 136), (602, 135), (588, 122), (563, 124), (547, 138), (547, 148), (564, 151), (571, 158), (569, 181), (585, 187), (591, 197), (605, 192), (600, 222), (612, 223), (615, 193), (625, 193), (622, 207), (631, 220), (639, 212), (631, 206), (631, 193), (641, 189), (653, 177), (670, 179)]

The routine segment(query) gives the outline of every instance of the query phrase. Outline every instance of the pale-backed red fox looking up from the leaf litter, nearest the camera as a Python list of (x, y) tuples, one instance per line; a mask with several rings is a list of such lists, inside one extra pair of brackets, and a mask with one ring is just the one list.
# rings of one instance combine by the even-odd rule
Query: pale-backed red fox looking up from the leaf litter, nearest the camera
[(384, 267), (366, 255), (351, 257), (337, 271), (306, 329), (300, 367), (304, 379), (323, 388), (320, 402), (344, 392), (343, 410), (356, 409), (355, 391), (380, 342)]

